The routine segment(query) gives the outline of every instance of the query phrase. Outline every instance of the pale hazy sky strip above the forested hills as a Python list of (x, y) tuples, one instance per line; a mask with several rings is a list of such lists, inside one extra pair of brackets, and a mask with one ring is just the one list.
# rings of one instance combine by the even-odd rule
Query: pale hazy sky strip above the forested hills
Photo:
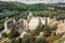
[(16, 1), (24, 3), (56, 3), (56, 2), (65, 2), (65, 0), (0, 0), (0, 1)]

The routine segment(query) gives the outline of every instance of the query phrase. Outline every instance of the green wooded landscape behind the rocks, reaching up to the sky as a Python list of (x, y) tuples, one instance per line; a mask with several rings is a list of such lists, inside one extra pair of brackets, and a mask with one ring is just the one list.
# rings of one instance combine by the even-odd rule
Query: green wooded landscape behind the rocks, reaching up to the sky
[[(0, 1), (0, 29), (3, 29), (3, 23), (4, 20), (9, 18), (27, 18), (28, 11), (31, 11), (34, 16), (61, 16), (56, 17), (56, 19), (65, 18), (65, 6), (61, 8), (58, 5), (64, 5), (65, 3), (55, 3), (55, 4), (44, 4), (44, 3), (38, 3), (38, 4), (25, 4), (25, 3), (18, 3), (18, 2), (1, 2)], [(54, 10), (51, 10), (49, 13), (49, 6), (54, 8)], [(9, 10), (9, 13), (3, 13), (3, 10)], [(63, 11), (63, 12), (62, 12)], [(62, 15), (63, 14), (63, 15)]]

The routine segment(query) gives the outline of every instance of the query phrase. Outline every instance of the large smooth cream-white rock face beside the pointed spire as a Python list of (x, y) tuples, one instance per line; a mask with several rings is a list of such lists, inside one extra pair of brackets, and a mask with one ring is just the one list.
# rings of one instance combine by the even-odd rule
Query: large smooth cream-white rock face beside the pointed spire
[(30, 30), (36, 29), (36, 27), (38, 26), (38, 24), (39, 24), (39, 18), (38, 18), (38, 17), (32, 17), (32, 18), (29, 20), (28, 29), (30, 29)]

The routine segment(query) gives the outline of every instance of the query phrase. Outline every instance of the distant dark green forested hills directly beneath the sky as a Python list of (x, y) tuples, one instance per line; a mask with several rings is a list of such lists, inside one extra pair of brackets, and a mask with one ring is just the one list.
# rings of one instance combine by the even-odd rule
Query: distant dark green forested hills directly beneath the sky
[[(65, 3), (55, 3), (55, 4), (44, 4), (44, 3), (38, 3), (38, 4), (25, 4), (25, 3), (18, 3), (18, 2), (0, 2), (0, 10), (18, 10), (18, 11), (43, 11), (44, 9), (48, 9), (48, 6), (54, 6), (55, 9), (65, 10), (65, 8), (60, 8), (60, 5), (64, 5)], [(58, 5), (58, 6), (57, 6)]]

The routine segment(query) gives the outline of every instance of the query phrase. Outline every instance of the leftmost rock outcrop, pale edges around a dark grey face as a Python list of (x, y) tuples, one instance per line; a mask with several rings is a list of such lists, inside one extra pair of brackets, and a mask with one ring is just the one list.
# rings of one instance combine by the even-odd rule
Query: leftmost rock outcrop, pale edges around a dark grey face
[(15, 24), (15, 19), (8, 19), (4, 22), (4, 31), (10, 32)]

